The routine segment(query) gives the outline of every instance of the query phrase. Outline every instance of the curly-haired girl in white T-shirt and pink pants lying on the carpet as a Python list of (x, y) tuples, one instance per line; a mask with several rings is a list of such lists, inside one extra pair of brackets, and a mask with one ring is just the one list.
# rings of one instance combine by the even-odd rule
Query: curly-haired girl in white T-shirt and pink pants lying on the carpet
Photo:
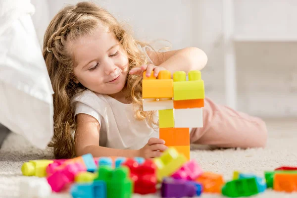
[[(142, 110), (142, 75), (161, 70), (201, 70), (207, 56), (198, 48), (156, 52), (133, 38), (106, 10), (91, 2), (66, 6), (52, 19), (43, 55), (54, 90), (56, 158), (157, 157), (158, 116)], [(264, 147), (265, 123), (205, 98), (203, 128), (191, 143), (217, 147)], [(73, 136), (74, 135), (74, 136)]]

